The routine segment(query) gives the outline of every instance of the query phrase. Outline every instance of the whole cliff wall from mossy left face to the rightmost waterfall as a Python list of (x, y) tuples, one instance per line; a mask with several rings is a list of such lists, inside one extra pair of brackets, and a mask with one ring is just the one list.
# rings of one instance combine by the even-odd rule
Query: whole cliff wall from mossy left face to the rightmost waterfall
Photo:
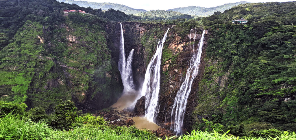
[[(1, 93), (1, 100), (25, 102), (29, 108), (43, 106), (47, 112), (51, 112), (59, 100), (72, 100), (83, 111), (100, 110), (115, 103), (123, 90), (118, 71), (120, 24), (92, 18), (91, 15), (69, 15), (65, 22), (53, 28), (27, 21), (16, 34), (15, 42), (1, 50), (1, 54), (8, 54), (4, 57), (7, 61), (1, 63), (5, 81), (0, 88), (7, 91)], [(142, 86), (158, 40), (170, 28), (163, 47), (157, 118), (158, 124), (169, 127), (170, 109), (191, 59), (188, 34), (196, 24), (122, 24), (126, 55), (135, 49), (132, 69), (136, 90)], [(201, 33), (202, 29), (196, 40)], [(11, 51), (12, 46), (15, 50)], [(14, 59), (15, 56), (22, 58)], [(197, 90), (200, 75), (194, 80), (192, 92)], [(186, 113), (192, 112), (194, 99), (191, 94)], [(190, 122), (189, 119), (188, 125)]]

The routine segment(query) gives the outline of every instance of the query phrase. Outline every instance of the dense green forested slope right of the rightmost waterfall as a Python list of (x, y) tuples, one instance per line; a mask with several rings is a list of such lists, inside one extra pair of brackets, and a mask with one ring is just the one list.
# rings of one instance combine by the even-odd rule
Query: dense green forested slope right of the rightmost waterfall
[[(295, 2), (242, 4), (200, 18), (210, 28), (193, 129), (207, 117), (236, 136), (296, 130)], [(231, 24), (245, 18), (247, 25)]]

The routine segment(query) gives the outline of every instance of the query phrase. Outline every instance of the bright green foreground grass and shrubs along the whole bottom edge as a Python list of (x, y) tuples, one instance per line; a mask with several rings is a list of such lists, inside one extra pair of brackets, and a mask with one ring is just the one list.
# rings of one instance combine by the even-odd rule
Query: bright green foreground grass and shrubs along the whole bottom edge
[[(0, 116), (0, 140), (163, 140), (157, 138), (151, 131), (139, 130), (133, 126), (109, 126), (101, 117), (91, 114), (75, 118), (73, 129), (61, 131), (53, 129), (47, 123), (49, 121), (41, 119), (34, 122), (25, 114), (11, 113)], [(230, 130), (229, 130), (230, 131)], [(228, 134), (220, 134), (215, 130), (195, 131), (191, 134), (184, 134), (179, 137), (165, 137), (164, 140), (296, 140), (295, 132), (283, 131), (278, 136), (261, 137), (238, 137)]]

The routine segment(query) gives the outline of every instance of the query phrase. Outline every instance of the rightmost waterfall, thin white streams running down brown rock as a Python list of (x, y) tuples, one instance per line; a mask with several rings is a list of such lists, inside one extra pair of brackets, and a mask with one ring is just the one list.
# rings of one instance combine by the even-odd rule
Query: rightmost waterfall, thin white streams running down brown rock
[(195, 48), (194, 42), (196, 37), (196, 29), (194, 33), (193, 43), (191, 43), (193, 30), (194, 29), (191, 29), (190, 35), (189, 35), (190, 45), (192, 44), (191, 45), (192, 57), (190, 60), (190, 67), (187, 69), (185, 81), (182, 83), (180, 89), (177, 92), (177, 95), (175, 97), (174, 104), (172, 107), (172, 113), (171, 113), (170, 129), (173, 129), (176, 132), (176, 135), (182, 134), (182, 126), (183, 126), (183, 119), (184, 119), (187, 99), (191, 91), (192, 82), (198, 74), (198, 69), (200, 66), (200, 58), (202, 54), (202, 47), (203, 47), (203, 42), (205, 37), (205, 30), (204, 30), (202, 32), (202, 37), (198, 44), (198, 48)]

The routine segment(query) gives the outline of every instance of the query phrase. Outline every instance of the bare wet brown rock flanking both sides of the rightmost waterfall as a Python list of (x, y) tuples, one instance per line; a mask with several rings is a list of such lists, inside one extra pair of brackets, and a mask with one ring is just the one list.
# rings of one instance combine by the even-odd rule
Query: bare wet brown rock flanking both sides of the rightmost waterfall
[[(197, 34), (195, 40), (196, 44), (199, 42), (201, 38), (201, 33), (203, 29), (199, 29), (200, 34)], [(202, 57), (201, 60), (203, 60), (206, 56), (206, 47), (207, 47), (207, 39), (208, 34), (205, 34), (205, 41), (204, 41), (204, 47), (202, 49)], [(176, 37), (175, 37), (176, 38)], [(184, 43), (186, 42), (186, 43)], [(184, 44), (184, 45), (183, 45)], [(189, 38), (181, 38), (180, 40), (174, 40), (172, 43), (170, 43), (168, 48), (171, 48), (170, 46), (178, 45), (179, 47), (182, 46), (183, 51), (180, 51), (179, 54), (176, 56), (176, 60), (173, 63), (173, 65), (168, 66), (167, 75), (162, 74), (161, 75), (161, 86), (160, 86), (160, 98), (159, 98), (159, 112), (157, 116), (157, 124), (162, 126), (163, 128), (170, 129), (171, 123), (171, 107), (174, 103), (174, 99), (176, 97), (176, 94), (181, 86), (181, 84), (184, 82), (185, 76), (184, 73), (186, 73), (189, 64), (188, 62), (191, 59), (191, 49), (189, 46)], [(163, 66), (165, 67), (165, 65)], [(166, 66), (167, 67), (167, 66)], [(199, 73), (194, 79), (192, 83), (192, 89), (189, 94), (188, 100), (187, 100), (187, 105), (186, 105), (186, 112), (184, 115), (184, 123), (183, 123), (183, 128), (184, 131), (189, 131), (192, 128), (192, 111), (194, 110), (194, 107), (197, 106), (196, 100), (197, 96), (195, 93), (198, 92), (198, 83), (202, 79), (203, 72), (205, 68), (205, 62), (201, 61), (200, 67), (199, 67)], [(166, 82), (163, 82), (166, 81)]]

